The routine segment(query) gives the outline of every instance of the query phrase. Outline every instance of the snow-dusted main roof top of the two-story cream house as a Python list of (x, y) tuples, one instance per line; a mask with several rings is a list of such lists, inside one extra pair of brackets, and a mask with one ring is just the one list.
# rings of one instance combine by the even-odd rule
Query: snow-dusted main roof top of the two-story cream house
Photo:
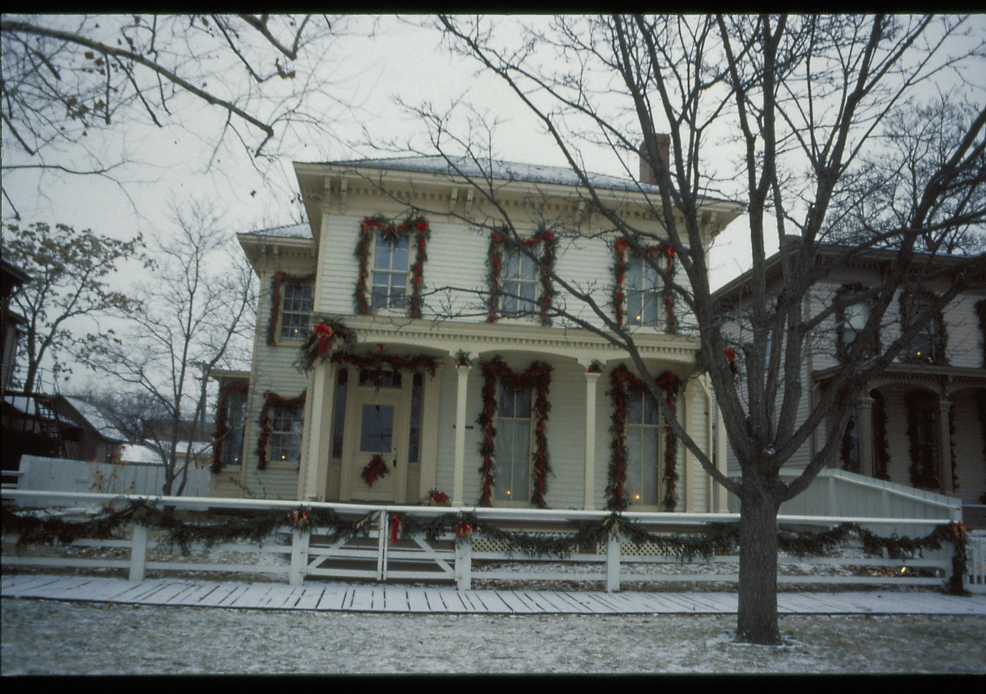
[[(582, 181), (567, 167), (546, 167), (541, 164), (522, 164), (504, 162), (498, 159), (480, 160), (481, 167), (468, 157), (442, 157), (430, 155), (421, 157), (397, 157), (395, 159), (351, 159), (341, 162), (324, 162), (336, 167), (361, 167), (366, 169), (386, 169), (401, 172), (421, 172), (424, 174), (466, 175), (482, 177), (492, 174), (494, 178), (505, 180), (527, 180), (537, 183), (556, 183), (558, 185), (582, 185)], [(618, 178), (606, 174), (586, 172), (589, 181), (598, 188), (610, 190), (641, 190), (657, 192), (654, 185), (641, 183), (631, 178)]]

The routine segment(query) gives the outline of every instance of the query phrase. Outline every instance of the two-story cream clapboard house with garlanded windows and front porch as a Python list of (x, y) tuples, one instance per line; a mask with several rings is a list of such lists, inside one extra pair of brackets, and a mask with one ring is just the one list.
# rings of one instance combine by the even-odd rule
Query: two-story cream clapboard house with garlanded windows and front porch
[[(688, 316), (607, 233), (571, 171), (492, 165), (490, 184), (528, 247), (633, 328), (711, 457), (715, 414), (707, 377), (692, 378)], [(309, 224), (239, 235), (263, 290), (250, 372), (213, 373), (212, 494), (414, 504), (439, 490), (457, 505), (725, 511), (725, 490), (674, 440), (628, 355), (551, 324), (551, 306), (579, 303), (504, 248), (491, 231), (503, 217), (444, 159), (295, 171)], [(656, 189), (593, 177), (685, 281), (645, 200)], [(739, 214), (707, 200), (705, 243)], [(580, 315), (602, 325), (588, 307)], [(330, 358), (300, 371), (306, 340)]]

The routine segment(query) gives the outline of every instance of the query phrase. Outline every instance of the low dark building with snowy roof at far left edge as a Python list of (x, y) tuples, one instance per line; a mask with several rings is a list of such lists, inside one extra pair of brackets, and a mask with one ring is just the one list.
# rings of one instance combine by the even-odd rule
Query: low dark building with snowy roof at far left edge
[(125, 438), (99, 410), (75, 397), (7, 393), (3, 398), (3, 469), (16, 470), (21, 455), (73, 460), (119, 460)]

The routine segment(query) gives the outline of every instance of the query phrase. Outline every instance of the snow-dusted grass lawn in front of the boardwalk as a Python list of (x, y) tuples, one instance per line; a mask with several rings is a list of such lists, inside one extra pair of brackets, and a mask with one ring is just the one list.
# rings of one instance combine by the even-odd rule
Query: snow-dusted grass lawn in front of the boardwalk
[(4, 599), (12, 674), (277, 672), (986, 672), (986, 617), (279, 612)]

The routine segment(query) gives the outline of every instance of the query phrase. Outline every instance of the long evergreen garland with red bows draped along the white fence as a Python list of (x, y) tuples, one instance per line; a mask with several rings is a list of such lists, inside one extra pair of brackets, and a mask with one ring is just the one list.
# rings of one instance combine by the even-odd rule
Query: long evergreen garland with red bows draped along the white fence
[[(380, 517), (378, 512), (371, 512), (360, 520), (345, 520), (331, 509), (315, 510), (301, 506), (287, 514), (283, 511), (257, 511), (239, 518), (224, 515), (210, 522), (186, 522), (176, 518), (172, 510), (158, 509), (148, 502), (125, 503), (126, 507), (119, 511), (107, 508), (95, 518), (83, 521), (64, 520), (51, 515), (39, 517), (36, 512), (15, 514), (5, 506), (2, 509), (3, 528), (5, 533), (17, 535), (17, 544), (23, 547), (41, 543), (68, 544), (86, 537), (112, 537), (123, 525), (133, 522), (165, 530), (165, 545), (178, 546), (187, 554), (196, 542), (202, 542), (206, 547), (235, 540), (261, 544), (285, 525), (329, 528), (330, 539), (350, 539), (365, 535), (371, 523)], [(735, 524), (709, 523), (692, 533), (655, 534), (616, 512), (600, 520), (578, 522), (574, 532), (564, 534), (504, 530), (468, 513), (444, 514), (430, 521), (394, 513), (390, 514), (388, 521), (392, 542), (397, 542), (400, 537), (421, 535), (434, 541), (449, 533), (455, 533), (460, 541), (467, 541), (473, 534), (479, 534), (505, 543), (509, 552), (526, 554), (531, 558), (564, 558), (579, 551), (580, 547), (606, 542), (617, 531), (634, 544), (652, 543), (662, 555), (676, 557), (682, 562), (699, 556), (708, 559), (716, 552), (731, 552), (740, 546), (740, 528)], [(888, 558), (900, 560), (920, 556), (925, 550), (951, 545), (954, 552), (948, 590), (951, 594), (964, 594), (962, 581), (967, 566), (966, 532), (965, 524), (958, 521), (939, 525), (924, 537), (882, 537), (856, 523), (847, 522), (820, 532), (779, 529), (777, 539), (781, 551), (800, 557), (827, 554), (854, 538), (862, 540), (863, 550), (870, 556), (880, 557), (886, 550)]]

